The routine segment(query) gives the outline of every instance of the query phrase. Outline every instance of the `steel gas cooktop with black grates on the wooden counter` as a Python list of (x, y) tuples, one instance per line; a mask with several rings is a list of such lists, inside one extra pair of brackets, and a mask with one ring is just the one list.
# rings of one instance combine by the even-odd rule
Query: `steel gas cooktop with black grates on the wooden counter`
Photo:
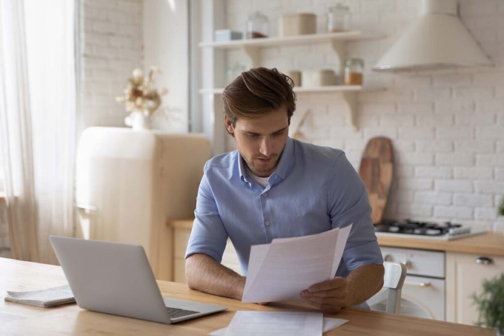
[(481, 230), (471, 230), (462, 224), (444, 222), (421, 222), (406, 219), (404, 221), (383, 220), (375, 226), (377, 236), (401, 236), (414, 238), (429, 238), (438, 240), (452, 240), (483, 233)]

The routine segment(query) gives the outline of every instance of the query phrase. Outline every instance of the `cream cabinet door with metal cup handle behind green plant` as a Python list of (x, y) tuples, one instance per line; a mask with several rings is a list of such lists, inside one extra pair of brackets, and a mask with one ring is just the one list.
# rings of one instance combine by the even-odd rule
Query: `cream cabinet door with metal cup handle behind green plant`
[(504, 257), (448, 252), (446, 264), (447, 321), (474, 324), (478, 312), (472, 294), (479, 293), (483, 280), (504, 272)]

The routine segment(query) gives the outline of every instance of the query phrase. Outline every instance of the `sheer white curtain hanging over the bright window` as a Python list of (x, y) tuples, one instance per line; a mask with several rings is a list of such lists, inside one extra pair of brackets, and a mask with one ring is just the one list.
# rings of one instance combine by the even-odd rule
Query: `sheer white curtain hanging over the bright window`
[(72, 0), (0, 0), (0, 148), (11, 256), (56, 263), (73, 234), (76, 128)]

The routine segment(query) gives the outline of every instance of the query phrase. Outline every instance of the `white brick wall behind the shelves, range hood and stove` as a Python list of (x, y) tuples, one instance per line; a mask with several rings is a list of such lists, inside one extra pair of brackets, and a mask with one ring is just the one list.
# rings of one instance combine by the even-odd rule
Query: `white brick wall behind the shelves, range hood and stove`
[[(504, 21), (504, 2), (459, 1), (462, 21), (495, 68), (424, 75), (369, 70), (417, 16), (421, 0), (343, 2), (351, 8), (352, 28), (387, 36), (380, 41), (347, 43), (348, 56), (365, 61), (364, 81), (385, 84), (387, 90), (359, 94), (357, 131), (351, 129), (337, 100), (328, 95), (299, 95), (298, 106), (303, 108), (313, 102), (318, 109), (327, 105), (323, 113), (313, 114), (303, 125), (304, 140), (344, 149), (358, 168), (370, 137), (390, 137), (395, 145), (396, 174), (386, 217), (453, 220), (504, 231), (503, 220), (495, 215), (504, 194), (504, 33), (499, 28)], [(316, 13), (322, 31), (333, 1), (227, 0), (226, 4), (228, 28), (242, 31), (249, 12), (259, 10), (270, 18), (274, 36), (279, 15), (301, 10)], [(234, 53), (228, 62), (239, 57)], [(268, 58), (265, 65), (281, 71), (334, 66), (327, 46), (279, 47), (263, 57)], [(231, 139), (229, 149), (233, 149)]]

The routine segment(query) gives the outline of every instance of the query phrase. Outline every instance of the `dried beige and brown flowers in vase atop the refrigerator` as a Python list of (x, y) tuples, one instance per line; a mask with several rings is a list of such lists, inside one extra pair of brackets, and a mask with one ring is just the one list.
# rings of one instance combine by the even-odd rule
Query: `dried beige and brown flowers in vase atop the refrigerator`
[(128, 112), (140, 112), (145, 116), (151, 116), (161, 106), (161, 96), (168, 93), (166, 88), (157, 90), (153, 87), (154, 73), (161, 73), (157, 66), (151, 66), (147, 79), (144, 79), (142, 69), (133, 70), (133, 77), (128, 79), (129, 84), (124, 89), (124, 95), (115, 97), (115, 100), (124, 102)]

